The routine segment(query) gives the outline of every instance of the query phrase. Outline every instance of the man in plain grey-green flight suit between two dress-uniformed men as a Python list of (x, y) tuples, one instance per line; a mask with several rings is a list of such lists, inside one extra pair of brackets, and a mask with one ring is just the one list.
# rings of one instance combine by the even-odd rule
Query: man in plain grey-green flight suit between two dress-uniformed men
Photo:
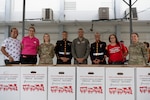
[(84, 38), (84, 31), (82, 28), (78, 30), (78, 38), (72, 42), (72, 55), (74, 57), (74, 64), (87, 64), (87, 58), (90, 53), (90, 46), (88, 39)]

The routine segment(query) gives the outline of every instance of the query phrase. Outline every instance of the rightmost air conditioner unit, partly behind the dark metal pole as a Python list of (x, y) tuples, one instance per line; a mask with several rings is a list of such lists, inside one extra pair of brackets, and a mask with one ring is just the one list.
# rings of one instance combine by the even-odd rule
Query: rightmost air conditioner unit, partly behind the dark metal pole
[[(131, 9), (131, 16), (133, 20), (138, 20), (137, 9), (136, 7)], [(129, 8), (125, 10), (125, 18), (130, 19)]]

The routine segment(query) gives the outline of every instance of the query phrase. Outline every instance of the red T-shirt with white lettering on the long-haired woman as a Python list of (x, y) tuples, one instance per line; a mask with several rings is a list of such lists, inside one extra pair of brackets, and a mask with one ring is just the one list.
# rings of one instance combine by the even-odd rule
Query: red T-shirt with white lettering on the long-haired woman
[(107, 46), (108, 62), (123, 62), (124, 52), (126, 52), (126, 48), (123, 44), (116, 44), (114, 46), (109, 44)]

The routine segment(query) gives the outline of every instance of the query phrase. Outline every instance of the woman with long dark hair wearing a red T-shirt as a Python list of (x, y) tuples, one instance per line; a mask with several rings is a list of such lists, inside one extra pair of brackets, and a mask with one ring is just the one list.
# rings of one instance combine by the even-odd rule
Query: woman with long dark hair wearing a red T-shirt
[(110, 44), (106, 47), (109, 64), (124, 64), (124, 57), (127, 56), (127, 50), (124, 44), (120, 43), (115, 34), (109, 36)]

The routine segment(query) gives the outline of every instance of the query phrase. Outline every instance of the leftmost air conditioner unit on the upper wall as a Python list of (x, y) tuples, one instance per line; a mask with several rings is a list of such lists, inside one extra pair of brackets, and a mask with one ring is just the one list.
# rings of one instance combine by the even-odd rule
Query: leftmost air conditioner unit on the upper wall
[(52, 21), (53, 20), (53, 10), (50, 8), (42, 9), (42, 20), (43, 21)]

